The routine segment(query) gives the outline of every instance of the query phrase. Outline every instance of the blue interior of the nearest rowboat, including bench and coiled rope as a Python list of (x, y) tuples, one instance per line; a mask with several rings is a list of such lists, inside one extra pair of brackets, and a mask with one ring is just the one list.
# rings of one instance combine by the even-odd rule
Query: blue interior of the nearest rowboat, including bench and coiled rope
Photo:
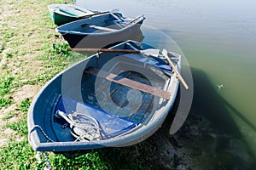
[[(119, 48), (130, 46), (136, 44)], [(34, 123), (60, 142), (111, 139), (147, 126), (172, 100), (172, 68), (159, 69), (163, 65), (143, 54), (95, 54), (49, 83), (34, 106)]]

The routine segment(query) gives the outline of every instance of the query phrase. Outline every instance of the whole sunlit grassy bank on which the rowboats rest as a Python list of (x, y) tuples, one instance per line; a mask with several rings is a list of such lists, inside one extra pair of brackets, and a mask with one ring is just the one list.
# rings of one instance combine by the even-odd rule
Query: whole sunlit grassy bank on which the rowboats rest
[[(38, 90), (71, 62), (53, 49), (59, 35), (47, 6), (63, 1), (0, 1), (0, 167), (44, 169), (27, 142), (26, 116)], [(147, 169), (155, 160), (149, 141), (122, 149), (49, 154), (54, 169)]]

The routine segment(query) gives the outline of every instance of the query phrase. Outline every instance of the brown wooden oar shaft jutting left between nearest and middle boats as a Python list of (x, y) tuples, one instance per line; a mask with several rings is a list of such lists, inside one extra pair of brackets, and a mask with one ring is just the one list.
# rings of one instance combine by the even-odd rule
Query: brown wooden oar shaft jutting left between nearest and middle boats
[(108, 52), (108, 53), (141, 53), (132, 49), (108, 49), (108, 48), (67, 48), (67, 51), (76, 52)]

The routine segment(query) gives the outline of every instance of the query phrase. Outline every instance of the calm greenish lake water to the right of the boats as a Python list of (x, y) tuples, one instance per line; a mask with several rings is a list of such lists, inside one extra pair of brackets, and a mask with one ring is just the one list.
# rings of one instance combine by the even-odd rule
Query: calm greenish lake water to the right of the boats
[(196, 146), (201, 150), (196, 155), (201, 163), (213, 167), (229, 169), (237, 164), (238, 169), (248, 169), (255, 165), (256, 1), (83, 2), (77, 4), (99, 11), (119, 8), (129, 17), (145, 14), (143, 42), (155, 46), (166, 46), (168, 41), (177, 44), (175, 48), (187, 59), (194, 82), (189, 117), (201, 116), (211, 127), (207, 132), (212, 138), (201, 139), (198, 144), (195, 140), (184, 147)]

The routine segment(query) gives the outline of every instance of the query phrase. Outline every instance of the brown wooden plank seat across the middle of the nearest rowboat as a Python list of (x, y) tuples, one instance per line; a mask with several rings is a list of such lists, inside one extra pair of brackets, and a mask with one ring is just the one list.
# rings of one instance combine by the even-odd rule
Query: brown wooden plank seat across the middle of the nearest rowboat
[(85, 69), (84, 71), (86, 73), (89, 73), (89, 74), (94, 75), (96, 77), (105, 78), (110, 82), (119, 83), (119, 84), (127, 86), (129, 88), (135, 88), (135, 89), (140, 90), (142, 92), (158, 96), (160, 98), (164, 98), (164, 99), (170, 99), (171, 98), (171, 93), (167, 92), (163, 89), (154, 88), (154, 87), (149, 86), (147, 84), (143, 84), (141, 82), (133, 81), (129, 78), (120, 77), (120, 76), (115, 75), (113, 73), (108, 73), (108, 72), (102, 71), (102, 70), (100, 71), (100, 70), (98, 70), (94, 67), (89, 67), (89, 68)]

